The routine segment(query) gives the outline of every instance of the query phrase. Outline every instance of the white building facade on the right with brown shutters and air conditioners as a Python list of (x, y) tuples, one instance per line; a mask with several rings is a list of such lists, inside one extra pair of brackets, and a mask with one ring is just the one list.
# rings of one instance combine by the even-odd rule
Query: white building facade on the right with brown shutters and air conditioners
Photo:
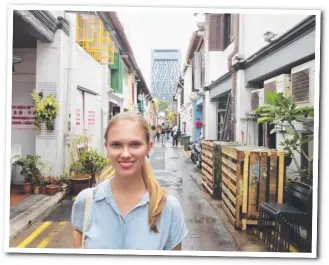
[[(194, 33), (202, 39), (190, 44), (186, 60), (182, 116), (194, 101), (195, 110), (202, 104), (205, 139), (282, 150), (280, 134), (258, 125), (253, 111), (266, 103), (267, 91), (314, 106), (315, 24), (315, 16), (297, 14), (203, 15)], [(201, 84), (198, 75), (204, 76)], [(197, 112), (192, 114), (195, 127)], [(312, 144), (306, 149), (312, 154)]]

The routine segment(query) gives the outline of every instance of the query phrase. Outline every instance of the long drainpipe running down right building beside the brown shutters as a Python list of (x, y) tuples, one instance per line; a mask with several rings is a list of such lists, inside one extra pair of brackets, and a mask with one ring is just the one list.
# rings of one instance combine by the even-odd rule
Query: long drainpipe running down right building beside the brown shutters
[(236, 87), (237, 87), (237, 76), (236, 70), (232, 67), (233, 57), (237, 54), (239, 50), (239, 15), (234, 15), (234, 49), (232, 53), (228, 56), (228, 70), (232, 73), (232, 93), (231, 93), (231, 106), (232, 106), (232, 120), (231, 120), (231, 130), (232, 137), (235, 141), (235, 125), (236, 125), (236, 113), (235, 113), (235, 102), (236, 102)]

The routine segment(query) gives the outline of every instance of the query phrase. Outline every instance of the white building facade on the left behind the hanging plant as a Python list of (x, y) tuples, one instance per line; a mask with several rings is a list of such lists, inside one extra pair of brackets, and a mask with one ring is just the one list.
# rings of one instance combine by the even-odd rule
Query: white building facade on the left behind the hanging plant
[[(111, 18), (106, 13), (101, 14), (101, 19)], [(65, 11), (14, 12), (13, 58), (18, 59), (14, 60), (12, 73), (11, 144), (21, 147), (22, 156), (41, 156), (43, 161), (52, 165), (52, 172), (49, 172), (52, 175), (67, 172), (75, 135), (91, 136), (91, 145), (105, 154), (103, 137), (109, 118), (132, 110), (132, 106), (137, 105), (137, 90), (148, 92), (145, 82), (138, 84), (135, 80), (138, 76), (144, 81), (140, 72), (133, 71), (138, 66), (134, 59), (130, 59), (131, 55), (129, 60), (120, 57), (124, 52), (131, 52), (127, 46), (120, 45), (123, 38), (120, 35), (111, 36), (111, 49), (119, 55), (127, 74), (118, 79), (123, 80), (123, 89), (113, 89), (111, 73), (115, 71), (111, 71), (109, 63), (96, 60), (79, 43), (77, 16), (77, 13)], [(98, 16), (92, 16), (102, 23)], [(113, 26), (112, 30), (117, 28)], [(43, 97), (54, 94), (59, 102), (53, 131), (43, 128), (40, 133), (36, 132), (33, 89), (42, 92)], [(22, 180), (22, 176), (16, 173), (13, 181)]]

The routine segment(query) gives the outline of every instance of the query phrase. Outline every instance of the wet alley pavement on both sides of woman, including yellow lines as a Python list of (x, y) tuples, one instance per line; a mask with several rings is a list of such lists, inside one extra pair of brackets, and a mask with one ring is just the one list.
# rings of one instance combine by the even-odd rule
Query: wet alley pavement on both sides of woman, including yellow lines
[[(239, 251), (231, 233), (225, 228), (214, 207), (206, 199), (200, 183), (200, 173), (179, 148), (156, 144), (150, 154), (150, 163), (160, 185), (181, 203), (188, 236), (182, 243), (183, 250)], [(42, 221), (20, 233), (10, 242), (11, 247), (72, 248), (72, 226), (69, 216), (72, 199), (67, 198)]]

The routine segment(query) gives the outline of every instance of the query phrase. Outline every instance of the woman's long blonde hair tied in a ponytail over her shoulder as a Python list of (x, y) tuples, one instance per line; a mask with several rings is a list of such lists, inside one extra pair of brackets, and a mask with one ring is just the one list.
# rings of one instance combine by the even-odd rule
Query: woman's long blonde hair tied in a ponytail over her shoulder
[[(137, 113), (134, 112), (123, 112), (120, 114), (117, 114), (114, 116), (109, 124), (107, 125), (107, 128), (105, 130), (104, 134), (104, 140), (107, 145), (107, 136), (109, 133), (109, 130), (119, 121), (132, 121), (136, 122), (137, 124), (141, 125), (143, 130), (145, 131), (145, 139), (147, 144), (150, 143), (151, 137), (150, 137), (150, 129), (147, 124), (147, 121)], [(98, 181), (101, 182), (106, 179), (109, 179), (113, 177), (115, 174), (114, 168), (111, 166), (111, 162), (108, 161), (108, 166), (106, 169), (100, 174)], [(142, 177), (145, 183), (145, 186), (149, 192), (150, 195), (150, 207), (149, 207), (149, 216), (148, 216), (148, 223), (150, 225), (150, 230), (158, 233), (159, 230), (157, 228), (157, 221), (160, 218), (160, 215), (163, 210), (164, 202), (166, 199), (167, 191), (160, 186), (158, 181), (156, 180), (153, 170), (149, 164), (149, 162), (145, 159), (144, 165), (142, 167)]]

